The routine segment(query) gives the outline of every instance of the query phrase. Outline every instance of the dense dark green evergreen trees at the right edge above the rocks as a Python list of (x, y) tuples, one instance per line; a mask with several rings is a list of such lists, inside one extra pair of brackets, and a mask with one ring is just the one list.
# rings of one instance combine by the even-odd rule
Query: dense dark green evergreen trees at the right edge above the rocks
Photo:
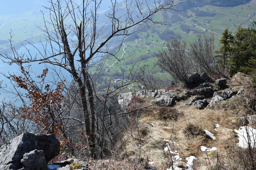
[(218, 62), (224, 62), (230, 68), (231, 75), (251, 73), (256, 63), (256, 29), (239, 26), (234, 35), (226, 29), (220, 42), (222, 46), (216, 51)]

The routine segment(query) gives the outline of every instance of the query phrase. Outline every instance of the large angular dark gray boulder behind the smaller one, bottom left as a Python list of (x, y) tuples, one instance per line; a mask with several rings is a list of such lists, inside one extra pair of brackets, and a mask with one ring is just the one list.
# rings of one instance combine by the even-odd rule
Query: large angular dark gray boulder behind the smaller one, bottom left
[(8, 145), (1, 147), (0, 169), (21, 169), (25, 166), (21, 159), (25, 153), (33, 150), (43, 150), (46, 163), (59, 154), (60, 142), (54, 134), (22, 133), (15, 137)]

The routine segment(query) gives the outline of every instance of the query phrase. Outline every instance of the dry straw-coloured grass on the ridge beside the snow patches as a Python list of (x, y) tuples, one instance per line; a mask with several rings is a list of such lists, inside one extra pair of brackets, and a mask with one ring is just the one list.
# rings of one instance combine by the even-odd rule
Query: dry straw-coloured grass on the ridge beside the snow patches
[[(237, 76), (228, 81), (228, 86), (232, 87), (232, 90), (239, 90), (245, 87), (246, 81), (248, 81), (247, 76)], [(179, 90), (179, 93), (182, 92), (183, 89)], [(176, 150), (184, 162), (186, 162), (186, 157), (195, 156), (198, 160), (193, 161), (194, 165), (200, 164), (196, 168), (197, 170), (206, 169), (205, 157), (211, 153), (202, 152), (201, 146), (217, 148), (210, 154), (210, 161), (216, 160), (217, 152), (220, 156), (226, 155), (225, 148), (232, 148), (238, 142), (236, 133), (232, 130), (241, 124), (239, 124), (234, 110), (238, 111), (239, 115), (245, 111), (244, 108), (238, 108), (243, 100), (243, 95), (237, 96), (230, 103), (217, 103), (215, 107), (204, 110), (185, 105), (191, 98), (177, 102), (172, 108), (156, 105), (149, 107), (139, 120), (139, 133), (142, 139), (139, 139), (135, 129), (125, 133), (127, 141), (123, 157), (135, 158), (141, 151), (144, 160), (148, 158), (154, 161), (155, 169), (170, 168), (168, 157), (163, 151), (166, 143), (164, 139), (172, 139), (178, 144)], [(145, 105), (152, 104), (151, 100), (150, 98), (144, 100)], [(210, 102), (211, 98), (207, 100)], [(244, 106), (241, 105), (241, 107)], [(218, 128), (215, 127), (217, 123), (220, 125)], [(206, 137), (202, 134), (202, 130), (210, 131), (216, 139)]]

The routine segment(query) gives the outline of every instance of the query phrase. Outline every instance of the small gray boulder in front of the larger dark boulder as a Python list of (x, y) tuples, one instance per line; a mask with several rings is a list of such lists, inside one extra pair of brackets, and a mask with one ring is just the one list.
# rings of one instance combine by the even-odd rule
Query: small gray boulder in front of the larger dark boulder
[(44, 151), (42, 150), (35, 149), (25, 153), (20, 162), (25, 166), (26, 170), (47, 170)]

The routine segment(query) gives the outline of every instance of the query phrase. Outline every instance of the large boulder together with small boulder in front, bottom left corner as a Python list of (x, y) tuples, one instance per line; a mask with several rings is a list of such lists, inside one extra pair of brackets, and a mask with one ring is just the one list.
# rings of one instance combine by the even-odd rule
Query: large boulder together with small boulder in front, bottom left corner
[[(60, 142), (54, 134), (22, 133), (1, 147), (0, 169), (43, 170), (46, 163), (59, 154), (59, 150)], [(29, 163), (35, 160), (33, 157), (36, 162), (37, 159), (40, 161)]]

